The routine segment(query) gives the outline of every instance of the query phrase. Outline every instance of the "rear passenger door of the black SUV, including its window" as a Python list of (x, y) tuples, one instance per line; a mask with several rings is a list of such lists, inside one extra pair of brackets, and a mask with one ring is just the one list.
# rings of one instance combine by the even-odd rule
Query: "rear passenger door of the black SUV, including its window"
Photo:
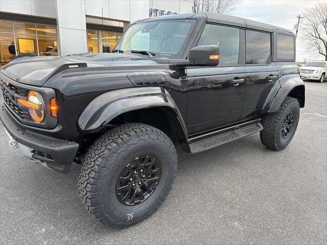
[(245, 31), (246, 83), (242, 118), (260, 115), (267, 95), (277, 83), (277, 68), (272, 63), (272, 33)]

